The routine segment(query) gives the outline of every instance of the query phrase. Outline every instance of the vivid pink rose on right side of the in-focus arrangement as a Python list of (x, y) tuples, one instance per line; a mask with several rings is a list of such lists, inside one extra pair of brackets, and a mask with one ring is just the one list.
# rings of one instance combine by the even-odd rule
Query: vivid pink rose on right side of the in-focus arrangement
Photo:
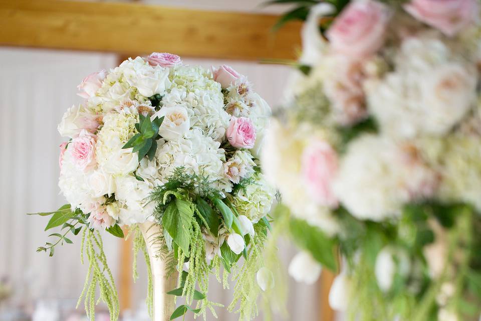
[(229, 143), (237, 148), (254, 148), (256, 143), (256, 128), (251, 119), (246, 117), (230, 118), (226, 136)]

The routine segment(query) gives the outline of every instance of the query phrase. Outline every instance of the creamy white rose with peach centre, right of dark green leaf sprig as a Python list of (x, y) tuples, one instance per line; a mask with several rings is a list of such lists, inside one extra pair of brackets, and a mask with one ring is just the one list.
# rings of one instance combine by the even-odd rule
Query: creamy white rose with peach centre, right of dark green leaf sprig
[(159, 128), (159, 134), (166, 140), (183, 137), (190, 129), (190, 119), (187, 110), (182, 106), (163, 107), (151, 118), (164, 117)]

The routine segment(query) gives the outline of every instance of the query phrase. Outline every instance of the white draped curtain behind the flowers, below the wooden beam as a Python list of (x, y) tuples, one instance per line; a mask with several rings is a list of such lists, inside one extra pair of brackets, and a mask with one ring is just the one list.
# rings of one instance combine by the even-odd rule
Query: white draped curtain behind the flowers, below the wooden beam
[[(184, 63), (209, 67), (224, 62), (184, 59)], [(287, 67), (226, 63), (247, 75), (273, 108), (280, 102), (289, 74)], [(81, 102), (76, 96), (80, 81), (93, 71), (116, 64), (117, 57), (111, 54), (0, 49), (0, 277), (8, 277), (15, 286), (11, 304), (46, 298), (76, 299), (80, 294), (86, 267), (80, 264), (78, 240), (59, 248), (54, 257), (36, 253), (50, 234), (43, 231), (47, 220), (26, 213), (50, 211), (65, 204), (57, 186), (58, 146), (62, 141), (57, 124), (68, 107)], [(120, 241), (113, 237), (105, 237), (104, 241), (110, 267), (117, 275), (122, 264)], [(286, 245), (281, 246), (281, 252), (289, 262), (295, 250)], [(143, 263), (139, 271), (134, 305), (145, 297)], [(288, 309), (295, 317), (288, 319), (319, 319), (317, 289), (290, 281)], [(231, 294), (225, 295), (221, 286), (212, 282), (209, 296), (227, 305)], [(237, 319), (221, 309), (218, 314), (222, 321)]]

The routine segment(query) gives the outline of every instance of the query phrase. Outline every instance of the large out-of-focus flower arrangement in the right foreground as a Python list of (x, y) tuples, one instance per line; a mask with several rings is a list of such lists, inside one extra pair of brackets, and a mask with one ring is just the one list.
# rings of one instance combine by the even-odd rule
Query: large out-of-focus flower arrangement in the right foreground
[(477, 320), (480, 3), (290, 2), (303, 53), (262, 157), (289, 273), (340, 272), (351, 320)]

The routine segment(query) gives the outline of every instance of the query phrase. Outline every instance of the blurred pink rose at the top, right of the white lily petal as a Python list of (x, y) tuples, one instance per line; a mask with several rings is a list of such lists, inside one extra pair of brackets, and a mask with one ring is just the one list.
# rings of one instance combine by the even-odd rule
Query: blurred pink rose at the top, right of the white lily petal
[(390, 13), (373, 0), (354, 1), (344, 9), (327, 32), (334, 51), (363, 58), (378, 51), (386, 34)]

